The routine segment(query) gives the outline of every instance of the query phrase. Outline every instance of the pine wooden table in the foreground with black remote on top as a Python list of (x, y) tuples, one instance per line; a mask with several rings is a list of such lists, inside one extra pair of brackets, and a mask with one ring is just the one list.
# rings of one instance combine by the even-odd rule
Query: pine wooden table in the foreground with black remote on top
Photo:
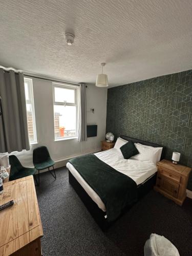
[(4, 183), (0, 204), (14, 204), (0, 211), (0, 255), (41, 255), (43, 236), (33, 176)]

